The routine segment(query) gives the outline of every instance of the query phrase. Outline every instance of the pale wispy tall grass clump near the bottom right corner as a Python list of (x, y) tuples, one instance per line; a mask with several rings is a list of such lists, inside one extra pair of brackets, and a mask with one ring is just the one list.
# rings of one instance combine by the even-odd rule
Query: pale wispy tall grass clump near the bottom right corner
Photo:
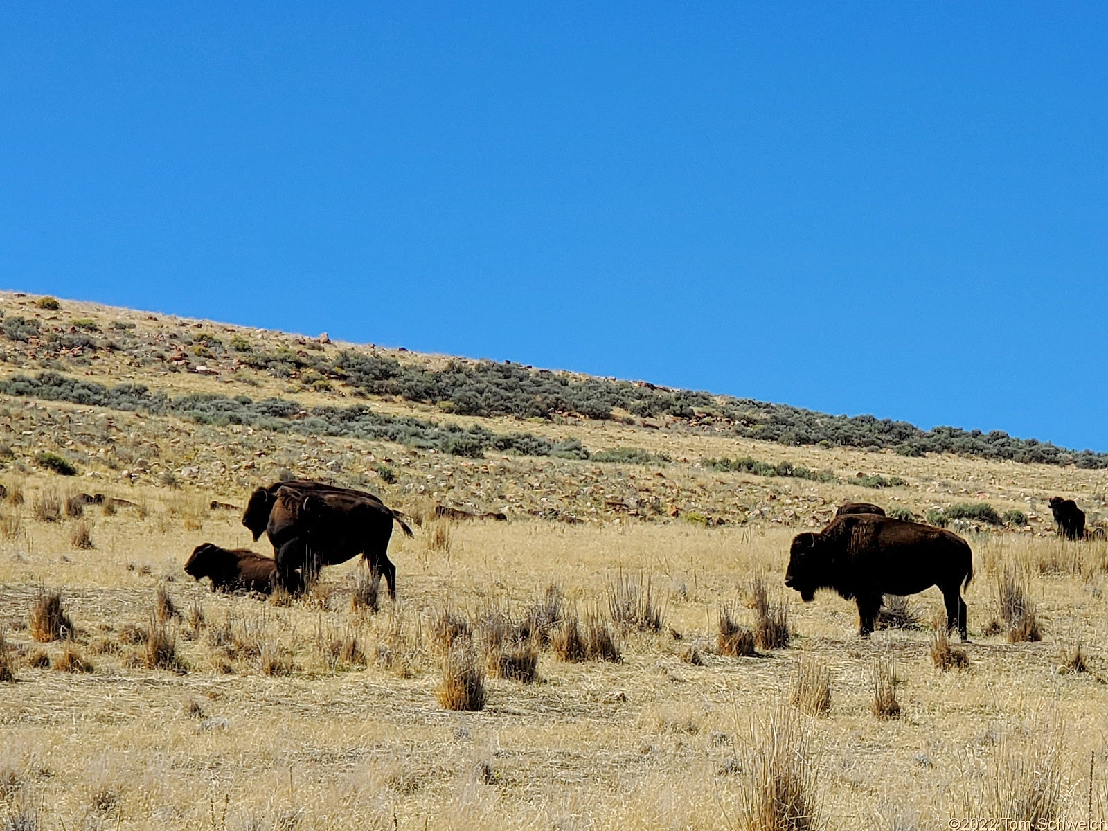
[(984, 788), (978, 804), (989, 815), (1010, 818), (1013, 828), (1046, 828), (1057, 819), (1063, 798), (1057, 729), (1048, 725), (1023, 735), (1005, 731)]

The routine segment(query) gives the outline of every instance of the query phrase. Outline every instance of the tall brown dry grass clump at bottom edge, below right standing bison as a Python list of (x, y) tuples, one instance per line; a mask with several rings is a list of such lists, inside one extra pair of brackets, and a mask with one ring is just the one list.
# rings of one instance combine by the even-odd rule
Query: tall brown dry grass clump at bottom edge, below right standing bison
[(741, 794), (745, 831), (811, 831), (822, 827), (817, 766), (794, 711), (774, 709), (750, 760)]

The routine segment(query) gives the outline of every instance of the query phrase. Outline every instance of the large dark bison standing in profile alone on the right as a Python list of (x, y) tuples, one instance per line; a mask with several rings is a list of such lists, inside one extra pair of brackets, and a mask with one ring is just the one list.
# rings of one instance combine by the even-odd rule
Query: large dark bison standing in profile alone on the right
[(804, 603), (818, 588), (832, 588), (858, 603), (859, 633), (873, 632), (883, 594), (909, 595), (938, 586), (946, 603), (946, 626), (966, 633), (962, 587), (973, 578), (973, 552), (945, 529), (875, 514), (837, 516), (818, 534), (797, 534), (784, 585)]

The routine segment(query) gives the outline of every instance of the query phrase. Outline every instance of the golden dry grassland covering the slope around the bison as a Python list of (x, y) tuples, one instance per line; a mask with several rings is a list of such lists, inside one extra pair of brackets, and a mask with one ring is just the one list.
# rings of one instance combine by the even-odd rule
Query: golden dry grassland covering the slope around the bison
[[(92, 306), (72, 314), (165, 325)], [(28, 371), (11, 365), (8, 375)], [(69, 371), (84, 370), (102, 371)], [(235, 393), (245, 383), (157, 380)], [(907, 831), (963, 815), (1108, 815), (1108, 544), (1060, 542), (1045, 507), (1064, 493), (1094, 516), (1108, 473), (584, 420), (526, 429), (675, 461), (464, 460), (73, 404), (0, 406), (10, 448), (0, 828)], [(30, 463), (53, 449), (79, 455), (82, 475)], [(907, 484), (874, 491), (697, 465), (724, 454)], [(384, 459), (394, 483), (372, 473)], [(393, 536), (396, 604), (382, 596), (372, 612), (355, 564), (326, 570), (299, 599), (213, 594), (184, 574), (201, 542), (249, 544), (238, 514), (208, 502), (242, 505), (281, 469), (367, 486), (422, 521), (414, 540)], [(160, 483), (167, 471), (174, 486)], [(70, 515), (78, 491), (135, 506)], [(847, 500), (920, 514), (988, 501), (1034, 517), (1025, 530), (963, 532), (976, 571), (970, 644), (933, 635), (935, 589), (910, 601), (920, 628), (870, 640), (855, 634), (852, 604), (787, 593), (791, 536)], [(507, 507), (511, 521), (434, 521), (437, 503)], [(1008, 638), (1001, 601), (1008, 592), (1012, 605), (1012, 575), (1040, 640)], [(725, 606), (735, 632), (765, 644), (780, 639), (786, 604), (787, 646), (720, 649)], [(469, 705), (481, 708), (448, 709)]]

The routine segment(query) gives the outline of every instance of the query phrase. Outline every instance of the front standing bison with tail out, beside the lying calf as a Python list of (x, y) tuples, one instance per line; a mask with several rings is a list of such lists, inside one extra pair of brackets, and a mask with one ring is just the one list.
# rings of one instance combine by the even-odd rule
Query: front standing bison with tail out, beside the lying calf
[[(359, 554), (373, 573), (373, 589), (384, 575), (389, 597), (397, 596), (397, 567), (389, 560), (389, 538), (397, 522), (412, 530), (379, 500), (355, 492), (301, 491), (280, 488), (269, 512), (266, 533), (274, 546), (285, 585), (307, 585), (325, 565), (345, 563)], [(300, 579), (296, 571), (300, 571)]]

